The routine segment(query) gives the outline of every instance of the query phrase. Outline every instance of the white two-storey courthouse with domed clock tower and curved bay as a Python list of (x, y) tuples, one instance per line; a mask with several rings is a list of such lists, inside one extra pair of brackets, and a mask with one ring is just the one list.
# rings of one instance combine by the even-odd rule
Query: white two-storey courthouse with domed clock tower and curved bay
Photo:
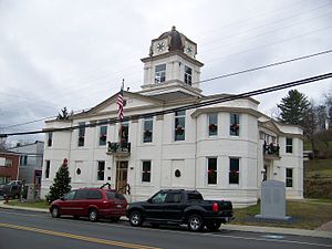
[[(117, 117), (116, 93), (69, 120), (48, 121), (42, 196), (68, 158), (73, 188), (129, 186), (129, 201), (146, 199), (160, 188), (185, 188), (207, 199), (248, 206), (260, 197), (264, 179), (284, 181), (288, 198), (303, 198), (301, 127), (263, 115), (251, 97), (178, 110), (231, 96), (201, 93), (204, 64), (196, 54), (197, 44), (173, 28), (152, 40), (149, 55), (142, 59), (142, 91), (124, 92), (125, 117), (175, 112), (103, 124)], [(71, 126), (80, 128), (53, 131)]]

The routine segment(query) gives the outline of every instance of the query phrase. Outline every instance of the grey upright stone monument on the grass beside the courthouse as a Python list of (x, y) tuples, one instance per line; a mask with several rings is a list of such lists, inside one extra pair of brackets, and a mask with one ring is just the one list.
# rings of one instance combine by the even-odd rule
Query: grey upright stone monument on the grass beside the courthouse
[(291, 218), (286, 216), (286, 186), (283, 181), (262, 181), (260, 215), (255, 217), (278, 220), (289, 220)]

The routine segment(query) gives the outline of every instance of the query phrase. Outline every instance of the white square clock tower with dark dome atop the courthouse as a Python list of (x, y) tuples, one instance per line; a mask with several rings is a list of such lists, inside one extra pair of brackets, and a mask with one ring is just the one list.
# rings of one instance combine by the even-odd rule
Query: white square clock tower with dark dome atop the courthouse
[(152, 40), (149, 56), (144, 63), (144, 84), (141, 93), (156, 95), (183, 92), (200, 96), (200, 68), (196, 60), (197, 44), (178, 32), (175, 27)]

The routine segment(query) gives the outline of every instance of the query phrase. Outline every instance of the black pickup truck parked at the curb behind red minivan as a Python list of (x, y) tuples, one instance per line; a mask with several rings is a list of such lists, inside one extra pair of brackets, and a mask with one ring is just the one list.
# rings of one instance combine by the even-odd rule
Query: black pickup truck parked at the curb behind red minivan
[(184, 189), (160, 190), (146, 201), (133, 203), (127, 208), (127, 217), (134, 227), (144, 221), (154, 227), (185, 224), (190, 231), (200, 231), (205, 226), (215, 231), (234, 219), (230, 201), (204, 200), (200, 193)]

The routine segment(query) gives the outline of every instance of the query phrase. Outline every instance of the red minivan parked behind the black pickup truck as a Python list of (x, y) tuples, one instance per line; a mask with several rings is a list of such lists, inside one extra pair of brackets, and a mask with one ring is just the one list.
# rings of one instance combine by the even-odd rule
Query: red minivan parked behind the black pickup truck
[(126, 198), (116, 190), (103, 188), (80, 188), (71, 190), (50, 206), (53, 218), (62, 215), (89, 217), (91, 221), (110, 218), (118, 221), (126, 214)]

